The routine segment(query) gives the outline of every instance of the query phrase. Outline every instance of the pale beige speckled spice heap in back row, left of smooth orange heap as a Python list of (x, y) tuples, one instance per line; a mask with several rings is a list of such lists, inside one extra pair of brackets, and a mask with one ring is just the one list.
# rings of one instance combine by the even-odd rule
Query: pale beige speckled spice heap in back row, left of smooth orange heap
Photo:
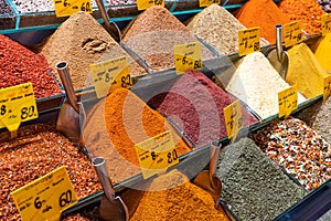
[[(223, 54), (238, 52), (238, 31), (246, 29), (234, 15), (217, 4), (212, 4), (188, 23), (188, 28), (197, 38)], [(261, 46), (267, 43), (260, 42)]]

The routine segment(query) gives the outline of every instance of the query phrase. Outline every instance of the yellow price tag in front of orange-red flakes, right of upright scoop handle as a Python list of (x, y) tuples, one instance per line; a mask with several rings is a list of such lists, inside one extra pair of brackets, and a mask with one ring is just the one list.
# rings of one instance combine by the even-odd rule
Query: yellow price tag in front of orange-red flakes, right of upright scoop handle
[(302, 22), (293, 21), (282, 25), (285, 46), (293, 46), (302, 41)]

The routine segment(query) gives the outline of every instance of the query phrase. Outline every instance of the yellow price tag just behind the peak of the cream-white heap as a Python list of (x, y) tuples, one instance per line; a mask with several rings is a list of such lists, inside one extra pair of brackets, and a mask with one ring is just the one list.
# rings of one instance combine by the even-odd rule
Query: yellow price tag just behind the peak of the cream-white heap
[(239, 56), (259, 51), (259, 28), (238, 31)]

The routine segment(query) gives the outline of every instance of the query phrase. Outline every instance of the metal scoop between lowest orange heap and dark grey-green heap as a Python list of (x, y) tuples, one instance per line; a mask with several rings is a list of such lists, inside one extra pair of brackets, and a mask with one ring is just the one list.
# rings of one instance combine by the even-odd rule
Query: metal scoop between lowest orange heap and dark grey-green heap
[(218, 177), (215, 177), (216, 165), (218, 161), (218, 154), (221, 150), (222, 144), (220, 141), (211, 143), (211, 161), (210, 161), (210, 170), (201, 171), (193, 183), (197, 187), (206, 190), (215, 201), (215, 209), (220, 206), (221, 192), (222, 192), (222, 182)]

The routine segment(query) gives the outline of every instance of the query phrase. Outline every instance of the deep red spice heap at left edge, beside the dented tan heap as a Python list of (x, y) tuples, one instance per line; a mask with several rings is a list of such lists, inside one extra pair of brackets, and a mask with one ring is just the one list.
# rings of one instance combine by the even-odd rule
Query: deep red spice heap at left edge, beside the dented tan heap
[(0, 88), (31, 82), (35, 98), (61, 93), (47, 61), (0, 34)]

